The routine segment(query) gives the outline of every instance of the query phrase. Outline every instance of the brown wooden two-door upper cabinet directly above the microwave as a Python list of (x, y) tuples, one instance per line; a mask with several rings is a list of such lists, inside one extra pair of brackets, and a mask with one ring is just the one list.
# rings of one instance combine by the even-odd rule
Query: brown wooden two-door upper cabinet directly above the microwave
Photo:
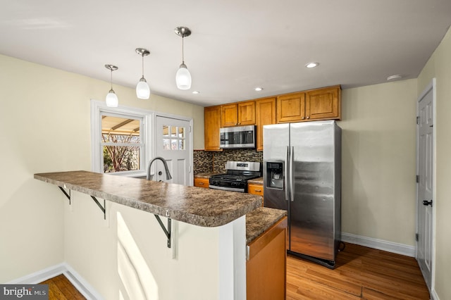
[(221, 108), (221, 127), (255, 125), (254, 100), (226, 104)]

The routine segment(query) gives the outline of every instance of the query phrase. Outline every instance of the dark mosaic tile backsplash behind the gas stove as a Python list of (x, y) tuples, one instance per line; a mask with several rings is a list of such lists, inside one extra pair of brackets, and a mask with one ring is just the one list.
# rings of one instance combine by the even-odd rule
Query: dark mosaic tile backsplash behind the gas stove
[(224, 173), (227, 161), (256, 161), (263, 162), (263, 152), (254, 149), (224, 149), (210, 152), (194, 150), (194, 175), (199, 173)]

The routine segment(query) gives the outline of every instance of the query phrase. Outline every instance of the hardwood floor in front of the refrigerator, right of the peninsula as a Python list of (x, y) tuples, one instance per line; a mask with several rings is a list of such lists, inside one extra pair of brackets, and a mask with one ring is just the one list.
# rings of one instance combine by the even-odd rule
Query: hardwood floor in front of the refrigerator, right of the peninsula
[(346, 244), (334, 270), (287, 257), (287, 299), (429, 299), (415, 258)]

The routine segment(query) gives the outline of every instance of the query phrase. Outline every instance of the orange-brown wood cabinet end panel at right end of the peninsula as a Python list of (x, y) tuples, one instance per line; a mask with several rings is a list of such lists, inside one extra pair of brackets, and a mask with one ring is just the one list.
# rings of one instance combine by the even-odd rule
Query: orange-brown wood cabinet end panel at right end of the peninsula
[(247, 300), (285, 299), (286, 234), (287, 217), (284, 217), (248, 245)]

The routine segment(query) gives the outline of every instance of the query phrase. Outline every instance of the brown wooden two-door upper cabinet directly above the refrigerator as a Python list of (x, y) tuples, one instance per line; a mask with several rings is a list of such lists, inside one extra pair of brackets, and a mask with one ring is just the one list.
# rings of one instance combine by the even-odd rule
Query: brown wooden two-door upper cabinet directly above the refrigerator
[(340, 120), (340, 85), (277, 97), (277, 123)]

